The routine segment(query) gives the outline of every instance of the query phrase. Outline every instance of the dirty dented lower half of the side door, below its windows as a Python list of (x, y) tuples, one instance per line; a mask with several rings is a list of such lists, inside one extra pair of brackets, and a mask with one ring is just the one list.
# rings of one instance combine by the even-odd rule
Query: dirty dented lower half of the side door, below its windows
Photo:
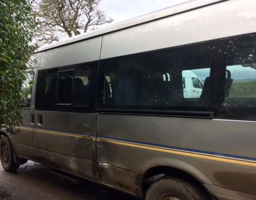
[(48, 111), (36, 111), (36, 114), (43, 116), (43, 124), (37, 125), (33, 132), (36, 160), (49, 167), (98, 181), (96, 115)]

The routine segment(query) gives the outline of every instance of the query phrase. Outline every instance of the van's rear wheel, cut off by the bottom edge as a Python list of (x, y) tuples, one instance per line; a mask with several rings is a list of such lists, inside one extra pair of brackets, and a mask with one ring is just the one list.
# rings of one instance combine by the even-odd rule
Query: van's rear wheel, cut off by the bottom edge
[(174, 177), (164, 176), (153, 183), (145, 200), (211, 200), (200, 188)]

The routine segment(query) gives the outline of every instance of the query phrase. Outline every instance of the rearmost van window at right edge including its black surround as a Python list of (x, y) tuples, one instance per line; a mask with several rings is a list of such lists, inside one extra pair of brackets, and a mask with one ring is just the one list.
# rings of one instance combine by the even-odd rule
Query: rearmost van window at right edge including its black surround
[(256, 35), (230, 39), (218, 118), (256, 120)]

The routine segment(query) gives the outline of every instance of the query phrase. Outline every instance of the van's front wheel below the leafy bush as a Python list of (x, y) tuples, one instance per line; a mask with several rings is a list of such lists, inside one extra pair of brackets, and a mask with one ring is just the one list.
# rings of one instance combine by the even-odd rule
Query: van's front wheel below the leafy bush
[(14, 152), (12, 144), (7, 136), (0, 139), (0, 160), (5, 171), (16, 172), (20, 167), (14, 162)]

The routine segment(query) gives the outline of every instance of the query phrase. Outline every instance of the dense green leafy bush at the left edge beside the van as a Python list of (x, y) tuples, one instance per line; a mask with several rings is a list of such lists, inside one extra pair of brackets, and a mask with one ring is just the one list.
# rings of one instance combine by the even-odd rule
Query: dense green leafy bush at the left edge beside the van
[(30, 59), (37, 25), (31, 5), (31, 0), (0, 0), (0, 131), (12, 132), (22, 123), (20, 108), (27, 95), (22, 84), (36, 62)]

